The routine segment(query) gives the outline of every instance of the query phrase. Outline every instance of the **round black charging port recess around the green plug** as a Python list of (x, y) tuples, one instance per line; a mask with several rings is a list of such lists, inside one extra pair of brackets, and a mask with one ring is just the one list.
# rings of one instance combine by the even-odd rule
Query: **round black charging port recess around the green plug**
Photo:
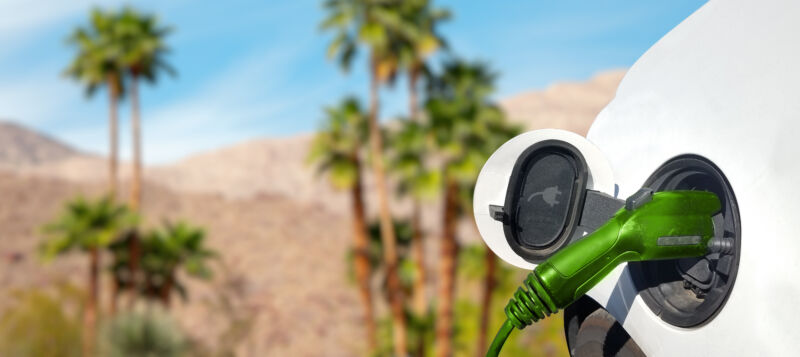
[(630, 263), (634, 283), (647, 306), (678, 327), (704, 324), (725, 305), (739, 267), (739, 207), (728, 180), (710, 160), (681, 155), (659, 167), (644, 184), (654, 191), (713, 192), (722, 210), (714, 218), (715, 239), (733, 242), (733, 249), (700, 258)]

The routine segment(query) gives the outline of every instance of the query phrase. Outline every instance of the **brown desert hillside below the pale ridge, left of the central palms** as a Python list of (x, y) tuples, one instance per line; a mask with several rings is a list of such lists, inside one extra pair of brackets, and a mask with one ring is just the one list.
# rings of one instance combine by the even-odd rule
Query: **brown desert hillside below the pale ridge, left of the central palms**
[[(39, 227), (65, 200), (77, 194), (99, 195), (104, 187), (0, 172), (0, 310), (10, 302), (7, 294), (17, 288), (53, 286), (64, 279), (85, 284), (85, 256), (70, 254), (51, 263), (38, 258)], [(145, 225), (180, 219), (200, 224), (209, 246), (220, 253), (221, 259), (212, 262), (212, 283), (185, 279), (189, 300), (176, 299), (173, 304), (194, 338), (210, 345), (218, 342), (230, 324), (228, 315), (219, 311), (224, 296), (234, 302), (236, 315), (254, 319), (245, 341), (249, 352), (243, 355), (360, 354), (360, 344), (342, 343), (363, 335), (358, 296), (344, 273), (349, 221), (281, 197), (227, 200), (153, 185), (144, 192), (142, 210), (149, 219)], [(309, 223), (297, 224), (296, 217)], [(101, 281), (104, 292), (109, 284), (109, 279)], [(108, 301), (101, 306), (107, 308)]]

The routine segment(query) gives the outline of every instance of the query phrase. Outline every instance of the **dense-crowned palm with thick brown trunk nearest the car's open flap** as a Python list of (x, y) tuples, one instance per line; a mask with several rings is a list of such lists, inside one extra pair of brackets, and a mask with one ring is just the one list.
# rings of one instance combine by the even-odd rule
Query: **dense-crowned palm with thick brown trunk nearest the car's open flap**
[(442, 239), (437, 292), (436, 355), (453, 354), (456, 225), (469, 212), (478, 171), (491, 153), (518, 133), (492, 103), (495, 75), (481, 63), (450, 61), (428, 86), (425, 108), (442, 160)]

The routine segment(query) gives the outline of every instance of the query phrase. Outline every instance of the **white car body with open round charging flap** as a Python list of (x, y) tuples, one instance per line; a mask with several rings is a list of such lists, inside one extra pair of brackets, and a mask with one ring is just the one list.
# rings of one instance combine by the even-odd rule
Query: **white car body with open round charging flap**
[[(538, 221), (509, 234), (493, 208), (531, 180), (539, 206), (520, 209)], [(617, 267), (565, 310), (570, 352), (798, 354), (800, 1), (710, 1), (630, 68), (586, 138), (537, 130), (499, 148), (474, 214), (492, 251), (533, 269), (641, 187), (716, 193), (734, 247)]]

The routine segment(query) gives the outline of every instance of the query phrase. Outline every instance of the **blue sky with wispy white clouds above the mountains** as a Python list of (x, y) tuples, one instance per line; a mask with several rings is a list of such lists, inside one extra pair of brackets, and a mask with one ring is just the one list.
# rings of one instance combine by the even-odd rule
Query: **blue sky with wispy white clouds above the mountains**
[[(125, 2), (129, 3), (129, 2)], [(497, 97), (632, 65), (704, 1), (436, 1), (452, 49), (491, 64)], [(121, 1), (0, 1), (0, 119), (33, 127), (79, 149), (108, 145), (105, 92), (87, 99), (61, 76), (73, 55), (64, 37), (92, 6)], [(366, 98), (363, 59), (349, 74), (325, 57), (318, 0), (137, 1), (176, 28), (168, 39), (179, 74), (142, 88), (148, 164), (257, 137), (310, 132), (324, 105)], [(405, 83), (382, 92), (382, 117), (403, 115)], [(120, 108), (121, 154), (129, 157), (129, 111)]]

